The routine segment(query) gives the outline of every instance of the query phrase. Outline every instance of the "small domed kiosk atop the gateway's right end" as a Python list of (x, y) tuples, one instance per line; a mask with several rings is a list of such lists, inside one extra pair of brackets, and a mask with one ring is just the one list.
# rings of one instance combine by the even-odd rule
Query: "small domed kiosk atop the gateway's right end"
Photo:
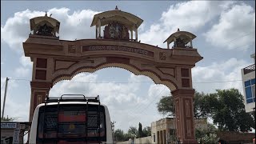
[(172, 48), (193, 48), (192, 40), (196, 36), (187, 31), (180, 31), (179, 29), (174, 34), (171, 34), (169, 38), (166, 39), (167, 48), (170, 49), (170, 43), (174, 43)]

